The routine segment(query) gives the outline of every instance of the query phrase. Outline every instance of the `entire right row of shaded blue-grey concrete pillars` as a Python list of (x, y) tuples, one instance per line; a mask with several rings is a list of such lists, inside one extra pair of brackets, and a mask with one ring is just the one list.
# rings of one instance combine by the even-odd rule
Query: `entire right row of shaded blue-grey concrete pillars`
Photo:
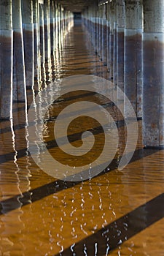
[(82, 21), (109, 80), (142, 119), (144, 146), (163, 148), (164, 1), (97, 1), (82, 13)]

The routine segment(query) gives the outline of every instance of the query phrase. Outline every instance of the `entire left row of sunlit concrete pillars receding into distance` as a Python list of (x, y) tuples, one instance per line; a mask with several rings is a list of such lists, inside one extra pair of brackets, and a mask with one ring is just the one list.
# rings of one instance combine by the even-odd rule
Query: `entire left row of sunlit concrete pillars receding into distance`
[(53, 0), (0, 0), (0, 119), (12, 118), (12, 103), (46, 80), (73, 14)]

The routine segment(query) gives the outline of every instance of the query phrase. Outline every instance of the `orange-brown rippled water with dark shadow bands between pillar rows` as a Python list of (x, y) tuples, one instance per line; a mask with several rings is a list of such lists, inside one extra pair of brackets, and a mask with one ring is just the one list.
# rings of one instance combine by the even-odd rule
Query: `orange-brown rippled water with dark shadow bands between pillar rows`
[[(56, 52), (49, 72), (51, 79), (59, 82), (52, 88), (59, 97), (60, 79), (66, 76), (109, 76), (80, 24), (74, 26)], [(28, 108), (38, 93), (28, 90)], [(74, 96), (70, 104), (81, 97)], [(82, 97), (103, 101), (95, 95)], [(64, 104), (63, 100), (54, 105), (45, 123), (44, 140), (50, 143), (51, 154), (60, 154), (58, 148), (53, 148), (50, 131), (55, 113)], [(114, 121), (122, 120), (114, 106), (106, 108), (113, 111)], [(28, 129), (35, 126), (37, 118), (36, 114), (28, 123), (25, 106), (19, 103), (14, 104), (13, 123), (0, 122), (0, 255), (163, 256), (164, 151), (142, 149), (141, 121), (136, 152), (124, 170), (117, 170), (125, 148), (125, 127), (120, 122), (119, 148), (112, 164), (99, 176), (74, 183), (48, 176), (31, 158)], [(82, 129), (82, 124), (77, 124), (71, 133)], [(101, 132), (96, 136), (101, 146)], [(80, 138), (74, 141), (77, 145), (79, 142)]]

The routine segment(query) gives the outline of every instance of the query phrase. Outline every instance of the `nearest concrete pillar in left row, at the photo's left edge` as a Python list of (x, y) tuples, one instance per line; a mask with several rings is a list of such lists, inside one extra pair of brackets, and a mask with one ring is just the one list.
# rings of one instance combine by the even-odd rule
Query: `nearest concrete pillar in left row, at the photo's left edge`
[(12, 1), (0, 0), (0, 118), (12, 118)]

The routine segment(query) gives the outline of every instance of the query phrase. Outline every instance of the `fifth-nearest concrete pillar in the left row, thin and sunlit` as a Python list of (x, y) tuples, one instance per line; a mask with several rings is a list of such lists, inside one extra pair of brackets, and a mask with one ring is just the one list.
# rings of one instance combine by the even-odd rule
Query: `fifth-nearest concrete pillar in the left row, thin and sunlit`
[(43, 4), (39, 4), (39, 39), (40, 39), (40, 56), (41, 56), (41, 75), (42, 80), (46, 80), (45, 75), (45, 47), (44, 47), (44, 9)]

